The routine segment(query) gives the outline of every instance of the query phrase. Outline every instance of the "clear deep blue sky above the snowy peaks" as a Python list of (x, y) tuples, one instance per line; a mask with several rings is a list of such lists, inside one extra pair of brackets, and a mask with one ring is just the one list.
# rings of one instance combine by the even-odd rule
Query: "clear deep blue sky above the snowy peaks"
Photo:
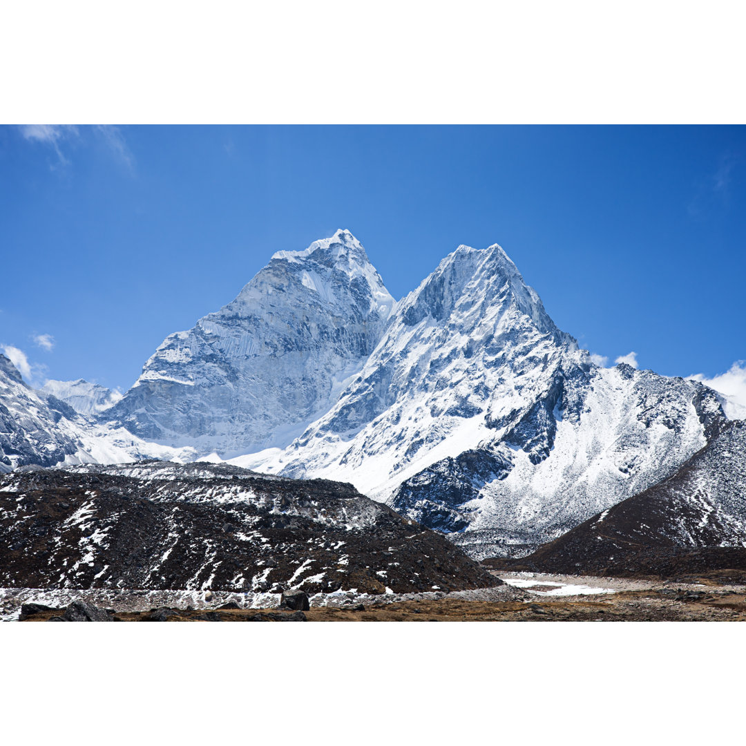
[(0, 128), (0, 346), (127, 389), (279, 249), (349, 228), (395, 298), (498, 242), (609, 364), (746, 358), (743, 127)]

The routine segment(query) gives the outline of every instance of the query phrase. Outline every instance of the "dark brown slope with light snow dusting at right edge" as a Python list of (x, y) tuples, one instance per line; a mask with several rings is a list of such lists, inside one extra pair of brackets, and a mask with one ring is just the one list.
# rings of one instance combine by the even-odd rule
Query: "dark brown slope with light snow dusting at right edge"
[(518, 560), (537, 571), (746, 568), (746, 422), (727, 423), (668, 479)]

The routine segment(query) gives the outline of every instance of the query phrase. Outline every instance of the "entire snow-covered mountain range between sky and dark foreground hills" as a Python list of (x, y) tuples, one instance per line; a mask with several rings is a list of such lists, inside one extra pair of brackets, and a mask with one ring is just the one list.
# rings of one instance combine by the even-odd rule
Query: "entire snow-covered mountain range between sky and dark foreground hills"
[(339, 480), (477, 558), (645, 492), (727, 423), (702, 383), (592, 363), (498, 245), (395, 302), (349, 231), (274, 254), (118, 400), (0, 363), (0, 468), (207, 457)]

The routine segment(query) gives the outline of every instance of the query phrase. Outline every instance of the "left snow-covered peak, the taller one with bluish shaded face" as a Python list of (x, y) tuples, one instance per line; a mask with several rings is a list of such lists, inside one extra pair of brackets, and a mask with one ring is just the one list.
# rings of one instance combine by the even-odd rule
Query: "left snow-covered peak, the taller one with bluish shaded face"
[(105, 416), (201, 455), (283, 447), (360, 372), (393, 305), (349, 231), (278, 251), (233, 302), (167, 337)]

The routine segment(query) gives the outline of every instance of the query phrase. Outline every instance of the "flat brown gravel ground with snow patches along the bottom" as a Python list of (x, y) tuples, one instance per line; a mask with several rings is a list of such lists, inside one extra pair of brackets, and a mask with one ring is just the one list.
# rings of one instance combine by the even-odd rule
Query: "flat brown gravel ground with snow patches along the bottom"
[[(538, 573), (500, 577), (502, 586), (451, 593), (317, 594), (303, 616), (306, 621), (746, 621), (743, 584)], [(556, 589), (563, 595), (554, 595)], [(75, 600), (110, 609), (114, 621), (154, 621), (154, 615), (156, 621), (303, 621), (298, 612), (291, 618), (289, 609), (279, 609), (280, 597), (272, 594), (109, 593), (2, 589), (0, 607), (8, 621), (18, 618), (21, 604), (31, 602), (54, 608), (28, 621), (59, 618)], [(221, 608), (226, 605), (231, 608)]]

